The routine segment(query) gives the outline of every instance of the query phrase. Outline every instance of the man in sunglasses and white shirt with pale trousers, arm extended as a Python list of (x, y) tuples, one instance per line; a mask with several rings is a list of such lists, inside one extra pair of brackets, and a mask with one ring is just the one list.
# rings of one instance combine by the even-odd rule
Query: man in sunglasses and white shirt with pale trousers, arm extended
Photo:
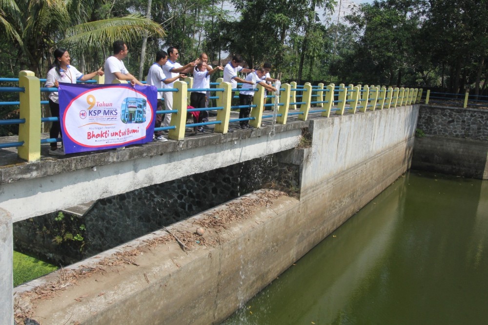
[[(169, 47), (168, 48), (168, 60), (163, 65), (163, 73), (166, 78), (173, 78), (175, 76), (179, 76), (180, 74), (187, 74), (193, 71), (193, 68), (200, 63), (200, 60), (197, 58), (195, 61), (190, 62), (184, 66), (177, 62), (180, 53), (176, 47)], [(173, 81), (164, 84), (163, 88), (173, 88)], [(173, 109), (173, 92), (164, 92), (164, 106), (166, 110)], [(169, 126), (171, 122), (171, 114), (165, 114), (163, 120), (163, 126)]]

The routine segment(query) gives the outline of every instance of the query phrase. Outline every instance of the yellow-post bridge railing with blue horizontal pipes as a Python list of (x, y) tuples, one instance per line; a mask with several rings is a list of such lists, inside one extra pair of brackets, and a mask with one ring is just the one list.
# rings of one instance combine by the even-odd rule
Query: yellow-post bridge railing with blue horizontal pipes
[[(17, 147), (18, 155), (27, 161), (36, 161), (41, 156), (41, 144), (58, 142), (61, 138), (41, 139), (41, 122), (59, 121), (58, 117), (41, 117), (41, 105), (48, 101), (41, 101), (41, 92), (54, 92), (57, 88), (41, 87), (39, 79), (30, 71), (21, 71), (19, 79), (0, 78), (1, 81), (18, 81), (19, 87), (0, 87), (0, 92), (14, 92), (19, 94), (19, 101), (0, 102), (0, 105), (19, 105), (20, 118), (0, 120), (0, 125), (18, 124), (19, 139), (15, 142), (0, 144), (1, 148)], [(103, 83), (103, 77), (97, 80), (88, 80), (87, 83)], [(123, 83), (125, 81), (116, 80)], [(310, 83), (297, 85), (296, 82), (282, 84), (279, 95), (269, 94), (265, 96), (264, 87), (258, 85), (251, 105), (232, 105), (232, 93), (242, 89), (232, 89), (230, 83), (223, 82), (222, 78), (210, 84), (215, 88), (192, 88), (193, 78), (187, 77), (185, 81), (175, 81), (174, 88), (158, 89), (159, 92), (173, 93), (173, 110), (156, 111), (157, 114), (171, 114), (169, 126), (156, 128), (155, 131), (168, 131), (168, 138), (183, 140), (185, 129), (204, 125), (215, 125), (214, 132), (225, 134), (228, 132), (229, 123), (248, 121), (254, 128), (260, 128), (263, 119), (273, 118), (278, 124), (286, 124), (287, 117), (297, 115), (299, 120), (306, 120), (308, 114), (320, 113), (329, 117), (332, 112), (338, 115), (355, 114), (357, 111), (366, 112), (389, 109), (398, 106), (414, 104), (420, 101), (422, 89), (392, 88), (385, 86), (361, 86), (340, 84), (335, 86), (323, 83), (312, 86)], [(248, 90), (248, 89), (246, 89)], [(191, 92), (210, 92), (210, 99), (216, 99), (216, 106), (208, 108), (188, 109), (189, 95)], [(239, 96), (234, 96), (239, 97)], [(271, 98), (275, 103), (266, 103)], [(428, 100), (428, 99), (427, 99)], [(314, 109), (311, 109), (313, 105)], [(248, 118), (230, 118), (231, 110), (252, 108)], [(265, 113), (265, 108), (276, 107), (273, 114)], [(217, 111), (215, 121), (186, 123), (187, 114), (192, 112)]]

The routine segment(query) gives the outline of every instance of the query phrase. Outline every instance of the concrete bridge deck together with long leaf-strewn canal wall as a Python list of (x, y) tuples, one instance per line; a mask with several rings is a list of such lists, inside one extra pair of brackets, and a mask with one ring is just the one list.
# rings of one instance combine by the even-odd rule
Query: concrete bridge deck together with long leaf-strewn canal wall
[(268, 154), (300, 171), (298, 198), (246, 194), (16, 287), (16, 306), (43, 324), (219, 324), (408, 170), (418, 114), (309, 116), (4, 170), (14, 221)]

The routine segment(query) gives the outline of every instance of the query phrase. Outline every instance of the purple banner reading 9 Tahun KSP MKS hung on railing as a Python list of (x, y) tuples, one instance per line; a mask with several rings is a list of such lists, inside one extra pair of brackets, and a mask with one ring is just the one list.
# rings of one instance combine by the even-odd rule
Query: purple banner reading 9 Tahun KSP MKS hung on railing
[(60, 83), (60, 121), (65, 153), (152, 141), (155, 86)]

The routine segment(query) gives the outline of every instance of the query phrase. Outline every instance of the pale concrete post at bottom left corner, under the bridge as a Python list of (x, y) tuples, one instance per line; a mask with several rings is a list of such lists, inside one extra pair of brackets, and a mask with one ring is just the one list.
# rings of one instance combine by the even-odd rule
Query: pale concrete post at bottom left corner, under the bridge
[(14, 324), (12, 216), (0, 208), (0, 324)]

